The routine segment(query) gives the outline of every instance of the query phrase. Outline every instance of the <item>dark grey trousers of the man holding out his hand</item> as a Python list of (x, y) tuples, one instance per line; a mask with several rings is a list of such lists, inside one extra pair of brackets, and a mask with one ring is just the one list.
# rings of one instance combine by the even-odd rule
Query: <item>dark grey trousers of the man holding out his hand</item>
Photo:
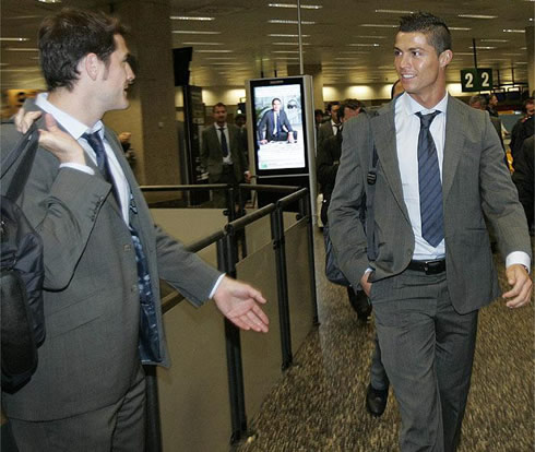
[(145, 376), (140, 370), (117, 403), (64, 419), (10, 419), (19, 452), (143, 452)]

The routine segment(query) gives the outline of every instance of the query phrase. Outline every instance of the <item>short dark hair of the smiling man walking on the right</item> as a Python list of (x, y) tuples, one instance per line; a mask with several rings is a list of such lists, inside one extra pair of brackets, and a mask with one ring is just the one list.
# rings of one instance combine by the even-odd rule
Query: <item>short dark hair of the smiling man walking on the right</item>
[(450, 28), (442, 19), (431, 13), (419, 11), (401, 17), (399, 32), (424, 33), (427, 41), (437, 50), (437, 55), (451, 50)]

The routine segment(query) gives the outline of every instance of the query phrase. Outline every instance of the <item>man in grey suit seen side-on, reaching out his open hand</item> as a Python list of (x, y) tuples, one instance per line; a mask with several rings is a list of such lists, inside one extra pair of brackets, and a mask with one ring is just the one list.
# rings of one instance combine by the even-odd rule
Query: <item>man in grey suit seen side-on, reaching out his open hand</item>
[[(21, 205), (45, 246), (47, 336), (32, 380), (2, 394), (21, 452), (144, 449), (141, 364), (169, 365), (159, 278), (195, 306), (213, 298), (240, 328), (268, 331), (258, 290), (154, 225), (100, 120), (129, 105), (123, 34), (116, 19), (78, 10), (47, 17), (39, 31), (49, 92), (24, 106), (34, 111), (27, 121), (40, 116), (41, 147)], [(2, 148), (14, 132), (2, 130)]]

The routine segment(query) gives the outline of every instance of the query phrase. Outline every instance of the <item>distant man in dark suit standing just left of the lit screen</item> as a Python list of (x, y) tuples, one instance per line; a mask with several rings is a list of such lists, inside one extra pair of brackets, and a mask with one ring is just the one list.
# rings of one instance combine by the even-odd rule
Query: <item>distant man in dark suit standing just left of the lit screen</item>
[[(202, 131), (201, 165), (209, 173), (210, 183), (236, 186), (249, 182), (246, 151), (241, 131), (227, 123), (227, 107), (217, 103), (212, 108), (214, 124)], [(214, 205), (225, 207), (225, 193), (214, 192)]]

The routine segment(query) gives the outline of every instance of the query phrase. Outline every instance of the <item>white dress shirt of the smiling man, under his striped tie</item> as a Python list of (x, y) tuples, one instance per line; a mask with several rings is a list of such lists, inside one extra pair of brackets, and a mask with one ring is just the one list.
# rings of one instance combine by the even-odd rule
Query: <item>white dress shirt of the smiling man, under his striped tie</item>
[[(395, 139), (397, 162), (403, 187), (403, 199), (407, 206), (408, 216), (413, 226), (415, 247), (413, 259), (429, 261), (443, 259), (445, 257), (444, 240), (432, 247), (421, 237), (421, 218), (418, 188), (418, 134), (420, 119), (416, 112), (427, 115), (439, 110), (429, 128), (439, 160), (440, 178), (442, 179), (442, 162), (444, 157), (445, 119), (448, 115), (448, 96), (440, 100), (435, 107), (428, 109), (419, 105), (407, 93), (403, 93), (395, 103)], [(530, 257), (523, 251), (511, 252), (506, 259), (506, 266), (522, 264), (530, 269)]]

